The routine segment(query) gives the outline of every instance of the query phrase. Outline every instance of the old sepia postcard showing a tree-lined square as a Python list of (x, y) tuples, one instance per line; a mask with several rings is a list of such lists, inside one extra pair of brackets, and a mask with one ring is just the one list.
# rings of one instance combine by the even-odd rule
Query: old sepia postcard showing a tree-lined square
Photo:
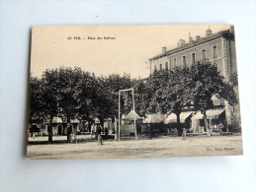
[(242, 156), (232, 24), (34, 26), (27, 158)]

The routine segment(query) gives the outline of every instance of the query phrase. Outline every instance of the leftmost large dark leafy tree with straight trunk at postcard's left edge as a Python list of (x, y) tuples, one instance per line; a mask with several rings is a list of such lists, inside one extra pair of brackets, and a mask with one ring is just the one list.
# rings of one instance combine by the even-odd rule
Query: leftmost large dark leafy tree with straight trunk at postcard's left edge
[(61, 117), (67, 123), (71, 119), (89, 119), (95, 112), (93, 104), (97, 96), (97, 79), (80, 68), (45, 70), (42, 79), (31, 77), (30, 116), (37, 113), (48, 122), (48, 141), (52, 142), (52, 119)]

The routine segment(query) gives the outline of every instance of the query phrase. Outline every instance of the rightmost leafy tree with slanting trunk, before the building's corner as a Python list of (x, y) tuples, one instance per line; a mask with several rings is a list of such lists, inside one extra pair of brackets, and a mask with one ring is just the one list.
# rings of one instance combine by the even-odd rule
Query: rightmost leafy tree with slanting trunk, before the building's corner
[(206, 111), (213, 107), (213, 96), (224, 98), (230, 105), (237, 103), (237, 96), (233, 87), (224, 82), (224, 78), (217, 71), (216, 65), (210, 62), (192, 65), (187, 76), (191, 82), (188, 91), (195, 110), (201, 110), (208, 136), (211, 136), (210, 125)]

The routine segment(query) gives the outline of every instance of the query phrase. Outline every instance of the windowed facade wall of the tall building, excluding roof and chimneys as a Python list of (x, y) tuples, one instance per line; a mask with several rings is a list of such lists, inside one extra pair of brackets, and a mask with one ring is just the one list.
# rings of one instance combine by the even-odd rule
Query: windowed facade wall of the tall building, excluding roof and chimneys
[[(213, 46), (216, 46), (216, 58), (213, 59)], [(202, 43), (200, 45), (194, 46), (192, 48), (188, 48), (186, 50), (182, 50), (178, 53), (171, 54), (169, 56), (165, 56), (156, 60), (151, 61), (151, 70), (154, 70), (154, 66), (159, 70), (159, 65), (163, 65), (163, 69), (165, 69), (165, 62), (168, 62), (168, 69), (174, 68), (174, 59), (176, 59), (176, 66), (182, 67), (183, 61), (182, 57), (186, 56), (186, 66), (192, 65), (192, 53), (196, 53), (196, 61), (203, 60), (202, 50), (206, 50), (206, 59), (209, 59), (211, 62), (217, 65), (217, 70), (220, 75), (225, 78), (225, 81), (229, 80), (230, 75), (233, 72), (237, 71), (236, 67), (236, 53), (235, 53), (235, 40), (234, 38), (226, 37), (218, 37), (211, 41)], [(153, 72), (153, 71), (151, 71)], [(238, 91), (237, 91), (238, 96)], [(225, 101), (225, 116), (227, 124), (230, 125), (234, 121), (234, 119), (240, 124), (240, 111), (239, 104), (235, 107), (232, 107)]]

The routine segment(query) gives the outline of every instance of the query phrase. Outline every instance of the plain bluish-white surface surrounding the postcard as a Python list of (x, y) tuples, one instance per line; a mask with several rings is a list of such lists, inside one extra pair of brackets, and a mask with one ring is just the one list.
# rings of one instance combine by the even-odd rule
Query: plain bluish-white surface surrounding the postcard
[[(0, 1), (0, 191), (256, 191), (255, 13), (255, 1), (221, 1), (221, 6), (214, 0)], [(208, 23), (235, 26), (243, 157), (137, 160), (23, 157), (29, 33), (33, 25)]]

